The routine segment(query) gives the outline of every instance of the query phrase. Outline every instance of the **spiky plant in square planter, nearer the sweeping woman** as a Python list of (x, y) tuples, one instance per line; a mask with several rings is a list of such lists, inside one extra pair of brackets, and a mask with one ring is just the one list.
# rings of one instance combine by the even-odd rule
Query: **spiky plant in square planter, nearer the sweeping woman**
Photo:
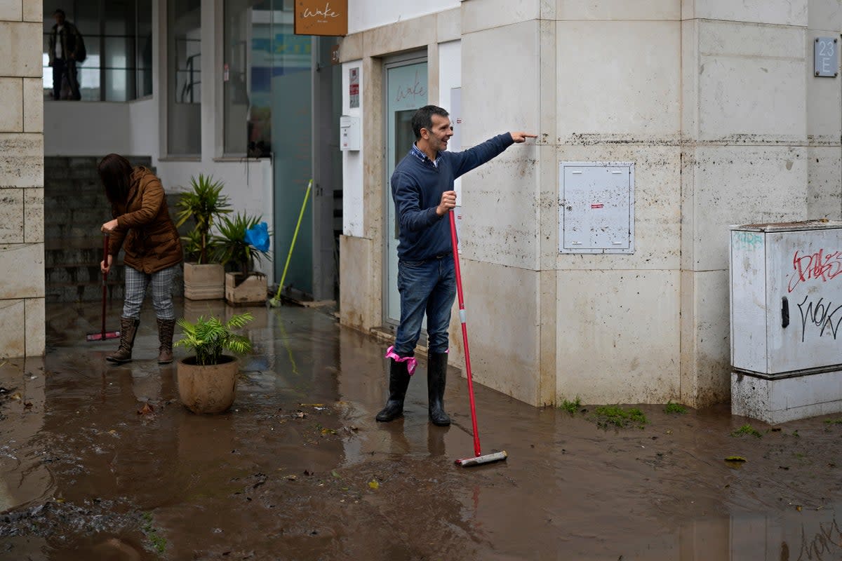
[(225, 296), (225, 269), (212, 262), (216, 254), (210, 230), (214, 221), (231, 212), (228, 198), (221, 194), (224, 184), (211, 176), (190, 177), (190, 188), (181, 193), (176, 204), (176, 226), (189, 219), (193, 230), (183, 236), (184, 297), (191, 300), (221, 299)]

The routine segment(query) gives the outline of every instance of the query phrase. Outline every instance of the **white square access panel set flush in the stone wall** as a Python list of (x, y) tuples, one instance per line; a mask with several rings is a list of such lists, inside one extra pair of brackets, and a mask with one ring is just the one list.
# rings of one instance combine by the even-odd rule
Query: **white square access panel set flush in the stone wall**
[(634, 164), (558, 165), (561, 253), (634, 253)]

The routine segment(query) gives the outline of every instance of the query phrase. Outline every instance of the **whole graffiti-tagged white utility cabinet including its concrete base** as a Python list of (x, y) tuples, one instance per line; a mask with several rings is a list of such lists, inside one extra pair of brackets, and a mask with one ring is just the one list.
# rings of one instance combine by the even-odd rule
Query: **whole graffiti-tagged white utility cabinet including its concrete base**
[(731, 228), (732, 410), (842, 410), (842, 222)]

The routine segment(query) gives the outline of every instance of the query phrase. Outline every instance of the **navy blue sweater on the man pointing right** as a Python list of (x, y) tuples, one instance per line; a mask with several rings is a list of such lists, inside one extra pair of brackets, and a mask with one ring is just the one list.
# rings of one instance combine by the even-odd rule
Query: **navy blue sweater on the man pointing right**
[(392, 173), (392, 198), (400, 225), (397, 258), (424, 261), (450, 251), (450, 220), (435, 214), (441, 193), (453, 190), (453, 180), (498, 156), (514, 144), (504, 133), (463, 152), (440, 152), (439, 165), (410, 151)]

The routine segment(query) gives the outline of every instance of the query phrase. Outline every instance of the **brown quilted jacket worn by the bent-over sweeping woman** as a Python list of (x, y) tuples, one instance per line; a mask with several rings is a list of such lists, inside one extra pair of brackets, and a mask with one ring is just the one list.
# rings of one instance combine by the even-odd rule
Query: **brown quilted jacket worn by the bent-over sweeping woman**
[(109, 254), (117, 254), (125, 240), (123, 261), (141, 273), (157, 273), (182, 262), (181, 239), (169, 216), (163, 185), (146, 167), (131, 172), (131, 186), (125, 204), (115, 204), (117, 219), (109, 242)]

